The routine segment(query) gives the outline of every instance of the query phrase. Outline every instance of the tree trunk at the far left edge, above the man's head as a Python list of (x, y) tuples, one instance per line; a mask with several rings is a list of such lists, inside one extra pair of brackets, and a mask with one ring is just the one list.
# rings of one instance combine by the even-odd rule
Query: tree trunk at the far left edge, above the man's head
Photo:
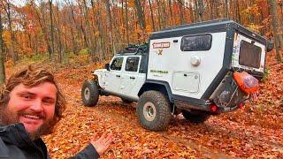
[(0, 87), (5, 83), (5, 64), (4, 64), (4, 50), (2, 39), (3, 27), (2, 27), (2, 15), (0, 11)]

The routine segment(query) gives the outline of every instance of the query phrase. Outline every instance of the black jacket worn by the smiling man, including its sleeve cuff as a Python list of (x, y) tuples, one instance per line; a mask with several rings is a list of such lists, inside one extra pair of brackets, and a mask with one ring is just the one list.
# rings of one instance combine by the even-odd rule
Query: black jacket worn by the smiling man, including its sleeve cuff
[[(23, 124), (0, 127), (0, 158), (47, 159), (50, 155), (42, 139), (31, 140)], [(96, 148), (88, 144), (73, 158), (99, 158)]]

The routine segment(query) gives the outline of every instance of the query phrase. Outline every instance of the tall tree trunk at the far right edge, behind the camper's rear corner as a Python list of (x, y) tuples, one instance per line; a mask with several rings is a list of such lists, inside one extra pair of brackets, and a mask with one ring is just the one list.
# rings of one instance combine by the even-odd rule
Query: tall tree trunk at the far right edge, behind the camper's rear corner
[[(278, 17), (277, 17), (277, 4), (275, 0), (268, 0), (271, 8), (271, 14), (272, 14), (272, 28), (273, 28), (273, 36), (275, 40), (275, 49), (276, 49), (276, 59), (280, 63), (281, 62), (281, 57), (280, 57), (280, 52), (279, 52), (279, 34), (278, 34)], [(281, 45), (281, 48), (283, 48), (283, 45)]]

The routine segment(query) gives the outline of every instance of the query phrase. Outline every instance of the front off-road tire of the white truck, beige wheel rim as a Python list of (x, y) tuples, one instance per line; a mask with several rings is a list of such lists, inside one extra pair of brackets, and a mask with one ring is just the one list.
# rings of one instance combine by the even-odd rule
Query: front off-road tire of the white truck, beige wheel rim
[(85, 106), (96, 106), (99, 98), (99, 87), (97, 81), (86, 80), (81, 88), (81, 100)]

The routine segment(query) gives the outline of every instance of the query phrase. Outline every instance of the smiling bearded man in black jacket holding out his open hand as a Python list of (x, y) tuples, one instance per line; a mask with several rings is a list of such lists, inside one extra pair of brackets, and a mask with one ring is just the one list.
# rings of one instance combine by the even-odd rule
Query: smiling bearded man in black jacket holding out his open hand
[[(50, 158), (41, 136), (52, 133), (64, 110), (52, 73), (28, 66), (11, 75), (0, 92), (0, 158)], [(98, 158), (112, 140), (95, 135), (74, 158)]]

